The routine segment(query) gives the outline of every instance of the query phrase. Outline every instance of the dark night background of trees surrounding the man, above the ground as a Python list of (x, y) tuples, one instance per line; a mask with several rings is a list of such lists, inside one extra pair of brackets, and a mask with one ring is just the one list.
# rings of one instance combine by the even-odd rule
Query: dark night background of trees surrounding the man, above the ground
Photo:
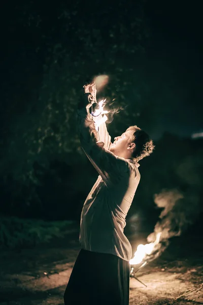
[(76, 109), (84, 81), (107, 74), (100, 96), (123, 109), (108, 125), (112, 137), (136, 124), (156, 145), (140, 162), (127, 229), (153, 230), (162, 190), (184, 194), (184, 229), (197, 223), (203, 140), (191, 135), (203, 128), (199, 2), (21, 0), (5, 3), (2, 14), (1, 215), (80, 220), (97, 173), (80, 148)]

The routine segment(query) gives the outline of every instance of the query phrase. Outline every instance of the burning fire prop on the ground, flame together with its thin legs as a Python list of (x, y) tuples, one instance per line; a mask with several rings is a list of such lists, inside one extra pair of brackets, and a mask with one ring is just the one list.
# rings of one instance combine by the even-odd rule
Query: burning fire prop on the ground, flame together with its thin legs
[(151, 255), (153, 253), (153, 251), (155, 250), (156, 245), (158, 245), (158, 243), (159, 243), (160, 236), (161, 236), (161, 233), (158, 233), (156, 235), (156, 240), (154, 242), (147, 243), (146, 245), (142, 245), (142, 244), (139, 245), (138, 248), (137, 248), (136, 253), (134, 253), (134, 257), (129, 261), (130, 265), (138, 265), (138, 264), (142, 263), (143, 260), (146, 259), (139, 266), (139, 268), (136, 271), (134, 271), (134, 267), (131, 267), (131, 269), (130, 269), (130, 277), (136, 279), (141, 284), (143, 284), (145, 287), (147, 287), (147, 285), (145, 285), (143, 282), (141, 282), (135, 276), (135, 274), (138, 272), (138, 270), (140, 270), (141, 268), (143, 268), (147, 264), (147, 257), (149, 255)]

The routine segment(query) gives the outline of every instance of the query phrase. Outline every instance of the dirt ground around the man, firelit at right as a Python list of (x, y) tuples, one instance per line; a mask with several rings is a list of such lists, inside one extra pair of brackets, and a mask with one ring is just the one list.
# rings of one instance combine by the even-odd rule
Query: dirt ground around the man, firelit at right
[[(0, 305), (62, 305), (78, 252), (77, 231), (35, 249), (2, 251)], [(201, 234), (172, 239), (161, 257), (136, 273), (147, 287), (130, 279), (129, 304), (202, 304), (202, 258)]]

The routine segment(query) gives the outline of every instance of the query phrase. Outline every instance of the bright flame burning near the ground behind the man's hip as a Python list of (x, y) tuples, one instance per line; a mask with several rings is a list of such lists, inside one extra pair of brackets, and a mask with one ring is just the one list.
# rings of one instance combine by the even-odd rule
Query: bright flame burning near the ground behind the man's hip
[(156, 240), (154, 242), (147, 243), (146, 245), (139, 245), (134, 257), (129, 261), (130, 265), (137, 265), (142, 262), (146, 255), (150, 255), (155, 246), (159, 243), (161, 232), (156, 235)]

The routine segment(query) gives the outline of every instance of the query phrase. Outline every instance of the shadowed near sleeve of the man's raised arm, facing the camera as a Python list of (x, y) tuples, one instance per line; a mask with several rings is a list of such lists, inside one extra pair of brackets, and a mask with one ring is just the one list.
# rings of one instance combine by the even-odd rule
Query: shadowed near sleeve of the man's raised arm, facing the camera
[[(81, 146), (106, 185), (116, 182), (120, 175), (129, 171), (127, 161), (107, 150), (105, 142), (98, 139), (99, 135), (96, 132), (94, 121), (86, 109), (78, 111), (78, 126)], [(108, 141), (109, 137), (107, 136)]]

